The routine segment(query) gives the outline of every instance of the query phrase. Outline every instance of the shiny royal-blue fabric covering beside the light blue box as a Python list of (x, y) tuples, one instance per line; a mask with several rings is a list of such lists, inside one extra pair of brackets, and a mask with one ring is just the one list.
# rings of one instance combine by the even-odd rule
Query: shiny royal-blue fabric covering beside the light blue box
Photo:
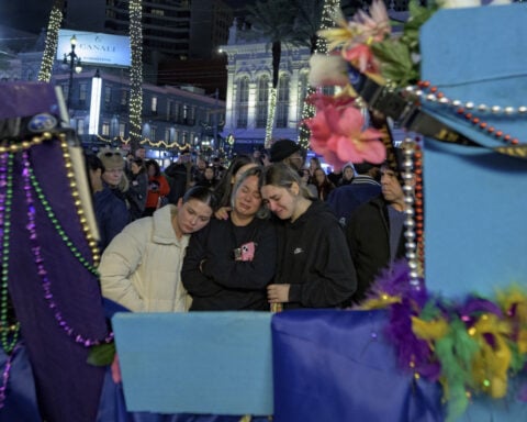
[(384, 311), (274, 315), (274, 422), (442, 421), (439, 385), (401, 370), (386, 321)]

